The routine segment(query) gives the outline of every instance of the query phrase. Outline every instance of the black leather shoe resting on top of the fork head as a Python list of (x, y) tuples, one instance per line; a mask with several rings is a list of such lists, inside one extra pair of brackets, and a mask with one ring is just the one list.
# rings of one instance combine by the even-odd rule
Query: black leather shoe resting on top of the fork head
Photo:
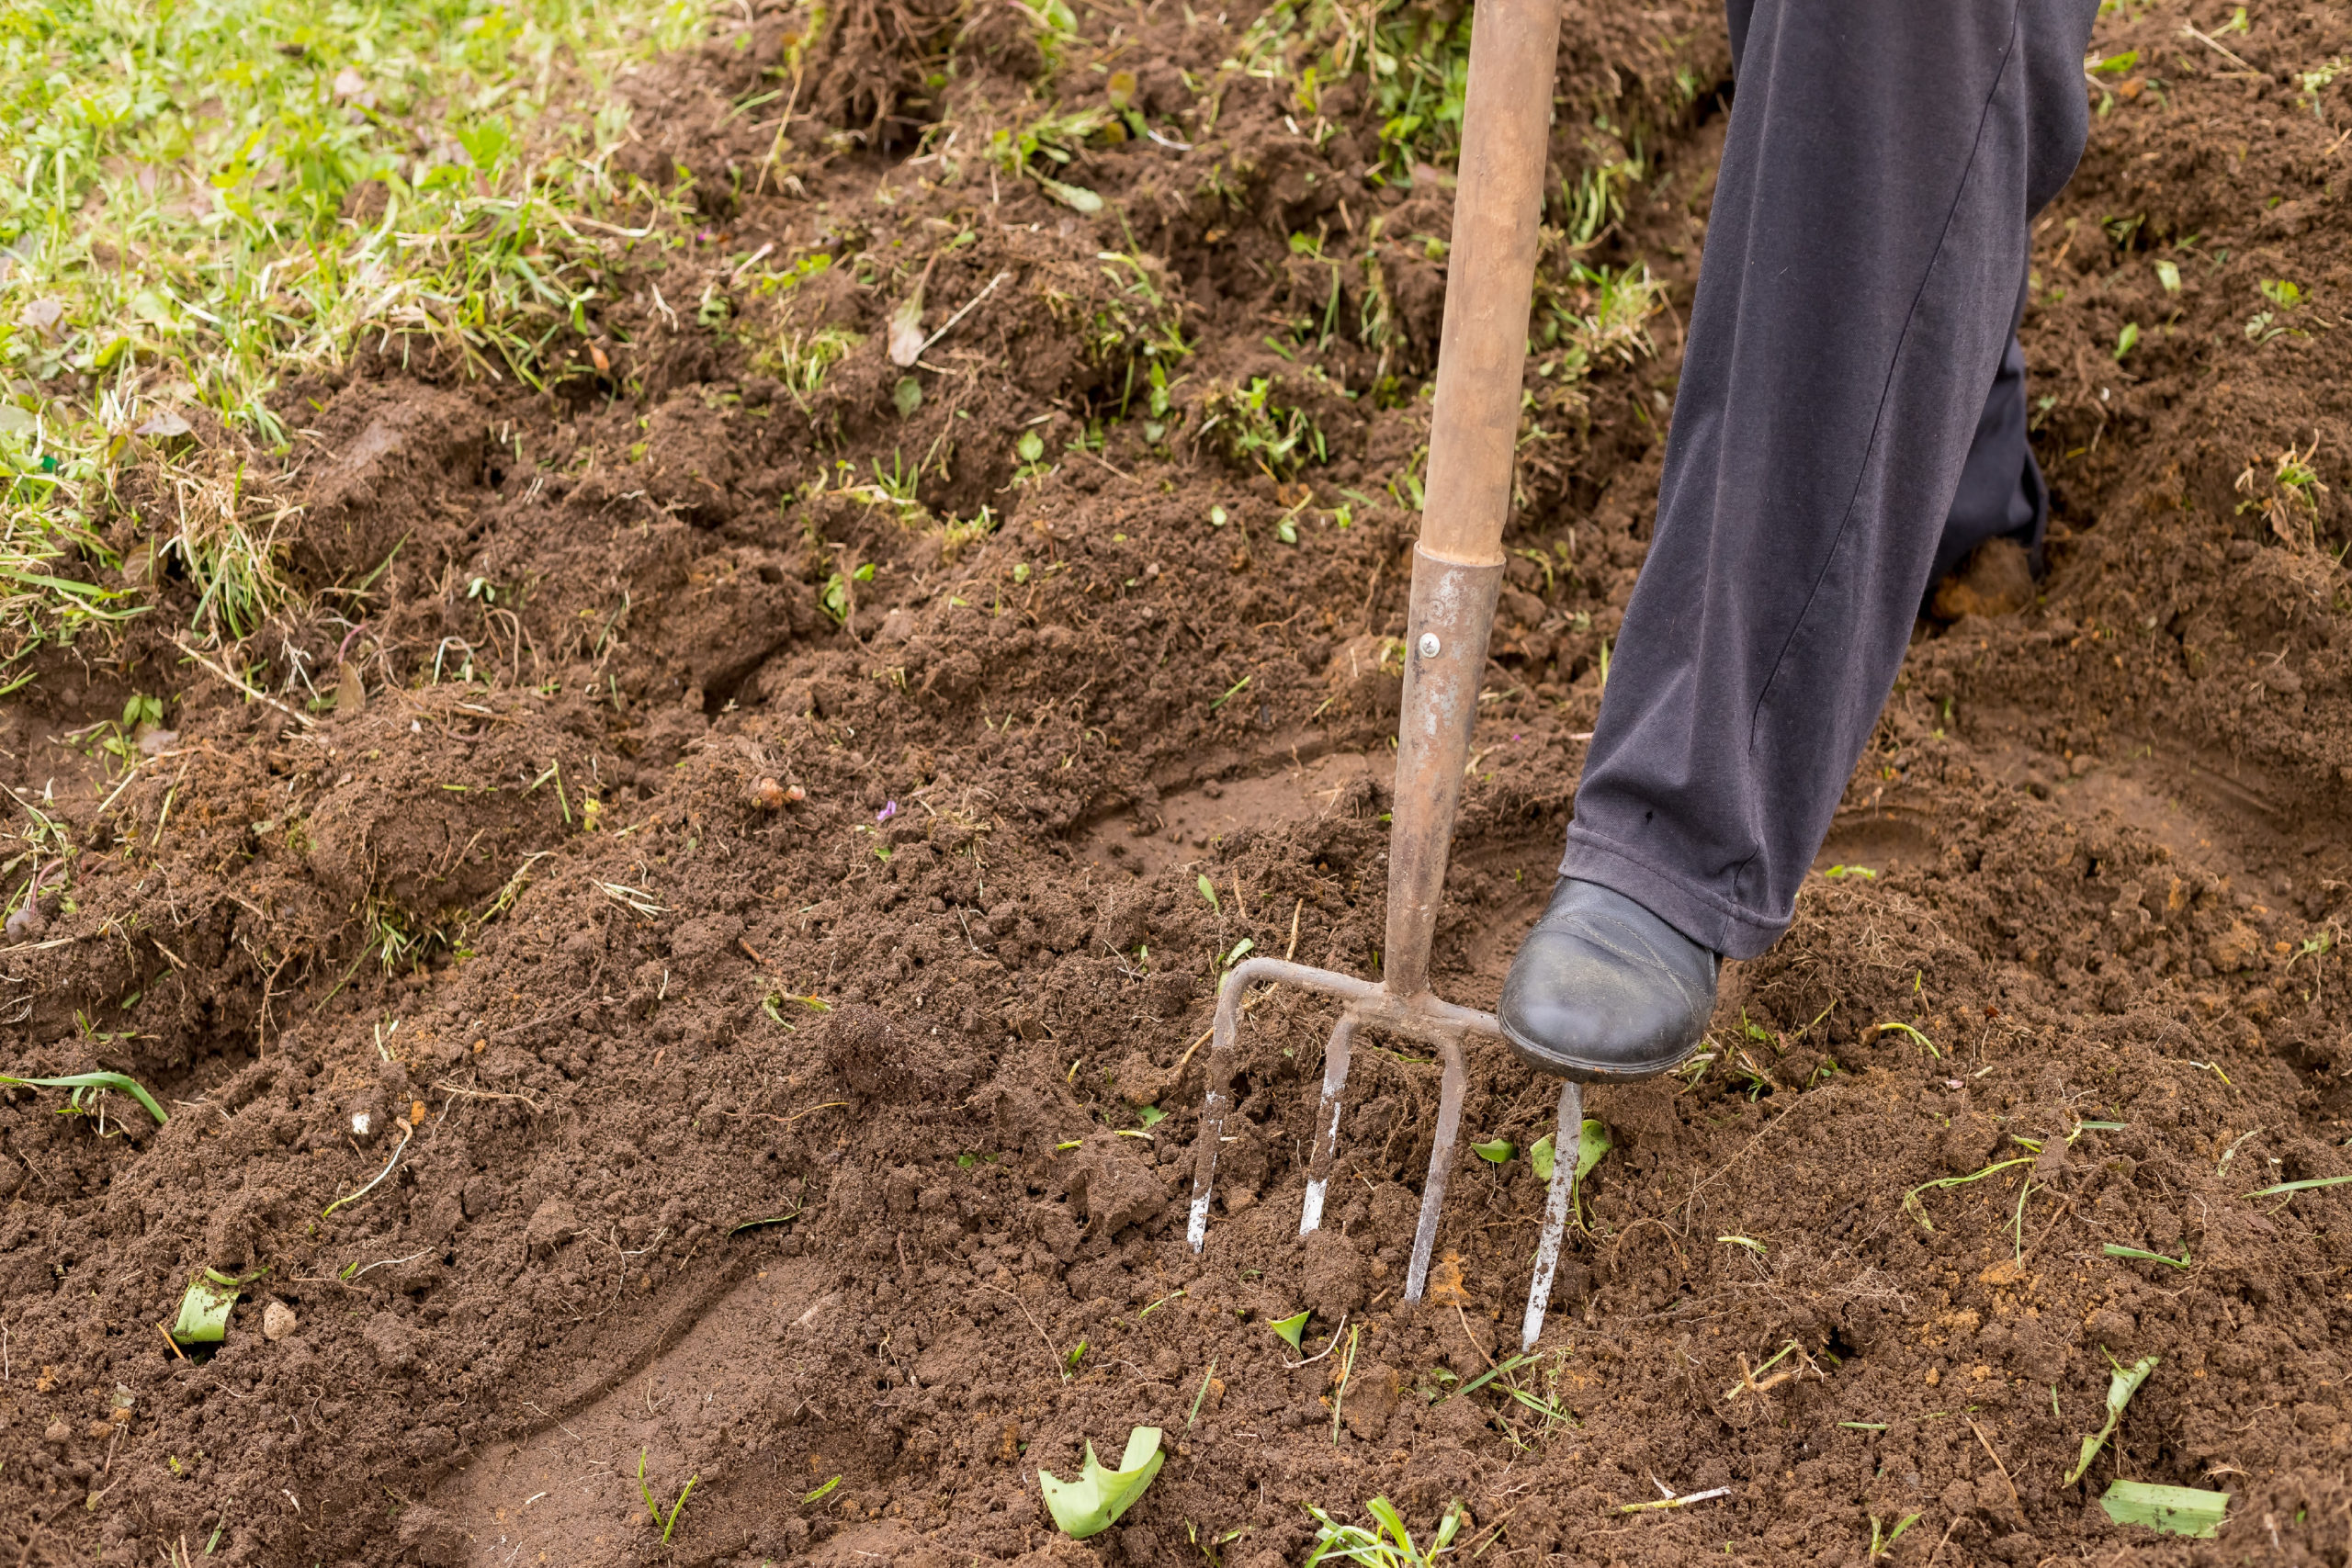
[(1503, 1039), (1585, 1084), (1679, 1065), (1715, 1011), (1717, 957), (1597, 882), (1562, 877), (1503, 980)]

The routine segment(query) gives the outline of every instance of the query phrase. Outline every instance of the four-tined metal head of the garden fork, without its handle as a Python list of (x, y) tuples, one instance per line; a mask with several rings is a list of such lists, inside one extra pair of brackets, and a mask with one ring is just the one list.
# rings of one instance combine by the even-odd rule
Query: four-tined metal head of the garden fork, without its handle
[[(1324, 1197), (1331, 1187), (1331, 1166), (1338, 1157), (1341, 1095), (1348, 1088), (1348, 1065), (1359, 1027), (1402, 1034), (1437, 1051), (1442, 1063), (1437, 1091), (1437, 1138), (1430, 1147), (1430, 1173), (1421, 1187), (1421, 1222), (1414, 1227), (1414, 1258), (1404, 1272), (1404, 1300), (1418, 1302), (1430, 1284), (1430, 1248), (1437, 1244), (1437, 1215), (1446, 1201), (1446, 1178), (1454, 1171), (1454, 1145), (1461, 1138), (1463, 1093), (1470, 1072), (1463, 1063), (1463, 1041), (1472, 1034), (1501, 1039), (1501, 1027), (1491, 1013), (1439, 1001), (1430, 992), (1397, 997), (1385, 985), (1357, 980), (1355, 976), (1289, 964), (1284, 959), (1247, 959), (1225, 973), (1216, 997), (1216, 1027), (1209, 1046), (1209, 1098), (1202, 1107), (1200, 1140), (1192, 1152), (1192, 1211), (1185, 1225), (1185, 1241), (1197, 1253), (1209, 1239), (1209, 1201), (1216, 1194), (1216, 1157), (1225, 1143), (1225, 1117), (1232, 1112), (1235, 1046), (1242, 1023), (1242, 994), (1251, 983), (1298, 985), (1338, 999), (1341, 1016), (1324, 1048), (1322, 1098), (1315, 1107), (1315, 1152), (1308, 1161), (1308, 1192), (1298, 1215), (1298, 1234), (1308, 1237), (1322, 1225)], [(1543, 1309), (1552, 1295), (1552, 1272), (1559, 1262), (1559, 1241), (1566, 1229), (1576, 1185), (1576, 1140), (1583, 1131), (1583, 1095), (1573, 1081), (1562, 1081), (1559, 1131), (1555, 1135), (1552, 1182), (1543, 1204), (1543, 1232), (1536, 1241), (1536, 1269), (1529, 1281), (1526, 1319), (1522, 1326), (1524, 1347), (1534, 1347), (1543, 1333)]]

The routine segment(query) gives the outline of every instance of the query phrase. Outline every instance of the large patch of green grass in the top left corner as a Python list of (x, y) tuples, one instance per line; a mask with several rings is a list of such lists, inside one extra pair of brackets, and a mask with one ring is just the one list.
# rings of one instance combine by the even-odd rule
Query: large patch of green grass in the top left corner
[[(699, 35), (703, 14), (691, 0), (0, 9), (0, 668), (141, 607), (94, 527), (120, 465), (202, 433), (205, 411), (280, 449), (270, 395), (362, 336), (393, 350), (426, 336), (482, 374), (560, 374), (550, 341), (652, 200), (609, 167), (628, 110), (607, 87)], [(369, 181), (376, 200), (353, 202)], [(242, 637), (268, 611), (280, 508), (235, 463), (172, 473), (205, 494), (176, 498), (169, 531), (143, 524), (200, 583), (198, 630)]]

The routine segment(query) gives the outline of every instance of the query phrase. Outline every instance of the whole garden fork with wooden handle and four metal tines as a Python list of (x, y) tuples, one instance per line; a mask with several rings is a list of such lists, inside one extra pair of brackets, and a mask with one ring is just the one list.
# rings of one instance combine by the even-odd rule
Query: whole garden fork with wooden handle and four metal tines
[[(1324, 1048), (1322, 1105), (1308, 1166), (1298, 1234), (1322, 1225), (1338, 1147), (1341, 1091), (1359, 1027), (1435, 1046), (1444, 1063), (1437, 1143), (1421, 1190), (1421, 1225), (1404, 1276), (1404, 1300), (1430, 1281), (1430, 1246), (1461, 1133), (1463, 1039), (1501, 1039), (1491, 1013), (1430, 994), (1430, 936), (1454, 844), (1470, 726), (1477, 719), (1486, 632), (1503, 585), (1503, 520), (1510, 510), (1512, 449), (1519, 435), (1519, 378), (1526, 369), (1526, 313), (1536, 277), (1536, 219), (1543, 207), (1552, 73), (1559, 47), (1557, 0), (1484, 0), (1470, 33), (1470, 87), (1463, 113), (1461, 181), (1454, 197), (1451, 275), (1437, 355), (1437, 409), (1430, 430), (1428, 505), (1414, 545), (1414, 588), (1404, 637), (1404, 712), (1397, 724), (1397, 792), (1388, 839), (1388, 943), (1381, 980), (1247, 959), (1225, 973), (1209, 1051), (1209, 1100), (1192, 1157), (1192, 1213), (1185, 1239), (1197, 1253), (1209, 1234), (1216, 1154), (1232, 1112), (1235, 1030), (1242, 994), (1256, 980), (1303, 985), (1341, 1001)], [(1552, 1182), (1526, 1293), (1524, 1345), (1543, 1333), (1559, 1237), (1576, 1185), (1583, 1095), (1559, 1088)]]

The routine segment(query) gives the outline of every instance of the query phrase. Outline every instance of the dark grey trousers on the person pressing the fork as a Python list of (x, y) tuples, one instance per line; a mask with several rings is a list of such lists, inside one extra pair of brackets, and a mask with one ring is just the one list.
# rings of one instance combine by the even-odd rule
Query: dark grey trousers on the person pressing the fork
[(1731, 0), (1738, 92), (1649, 559), (1562, 875), (1755, 957), (1788, 929), (1933, 574), (2039, 543), (2030, 221), (2098, 0)]

